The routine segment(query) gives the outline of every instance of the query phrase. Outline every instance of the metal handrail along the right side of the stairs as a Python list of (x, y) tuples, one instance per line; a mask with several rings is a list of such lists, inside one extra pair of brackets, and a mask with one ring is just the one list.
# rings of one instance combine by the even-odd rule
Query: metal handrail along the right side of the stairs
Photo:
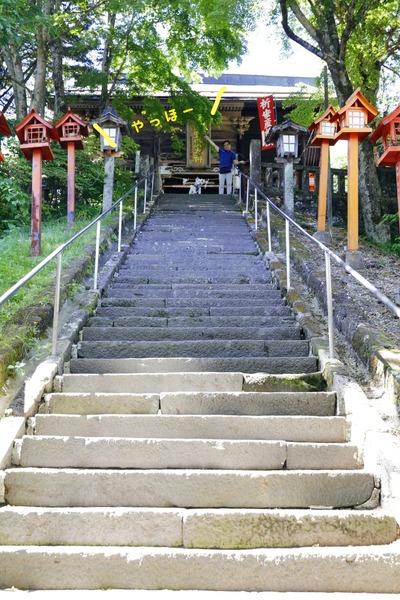
[[(247, 182), (246, 190), (246, 212), (249, 212), (249, 195), (250, 188), (254, 188), (255, 202), (254, 202), (254, 223), (255, 230), (258, 227), (258, 207), (257, 198), (258, 195), (266, 201), (266, 213), (267, 213), (267, 236), (268, 236), (268, 248), (271, 252), (271, 221), (270, 221), (270, 208), (273, 208), (285, 220), (285, 246), (286, 246), (286, 286), (287, 289), (291, 288), (290, 281), (290, 226), (295, 228), (301, 235), (305, 236), (308, 241), (312, 242), (315, 246), (318, 246), (325, 255), (325, 275), (326, 275), (326, 295), (327, 295), (327, 313), (328, 313), (328, 338), (329, 338), (329, 356), (334, 358), (334, 343), (333, 343), (333, 300), (332, 300), (332, 275), (331, 275), (331, 259), (334, 260), (340, 267), (342, 267), (347, 273), (349, 273), (354, 279), (356, 279), (367, 291), (372, 294), (379, 302), (382, 302), (396, 317), (400, 318), (400, 308), (396, 306), (387, 296), (380, 292), (368, 279), (363, 277), (358, 271), (353, 269), (350, 265), (344, 262), (337, 254), (330, 250), (325, 244), (312, 237), (307, 231), (305, 231), (296, 221), (289, 217), (283, 210), (278, 208), (272, 200), (270, 200), (264, 192), (260, 189), (258, 184), (251, 181), (250, 177), (240, 171), (240, 177), (245, 177)], [(243, 186), (240, 185), (240, 190)], [(239, 195), (241, 200), (241, 195)]]

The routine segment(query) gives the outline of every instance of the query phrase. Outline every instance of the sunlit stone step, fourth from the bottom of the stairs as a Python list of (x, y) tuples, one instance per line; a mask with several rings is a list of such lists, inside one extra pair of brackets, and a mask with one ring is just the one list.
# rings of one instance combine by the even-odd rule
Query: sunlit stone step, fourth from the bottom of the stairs
[(362, 467), (357, 447), (351, 444), (37, 435), (26, 435), (16, 443), (14, 464), (24, 468), (235, 471), (353, 470)]

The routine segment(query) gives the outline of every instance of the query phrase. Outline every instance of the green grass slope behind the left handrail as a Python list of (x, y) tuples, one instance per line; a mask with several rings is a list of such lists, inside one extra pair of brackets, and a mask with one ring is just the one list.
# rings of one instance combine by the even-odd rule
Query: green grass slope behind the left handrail
[[(53, 250), (58, 248), (60, 244), (69, 240), (92, 220), (75, 221), (72, 227), (68, 227), (65, 220), (43, 224), (41, 238), (42, 254), (37, 257), (30, 256), (31, 236), (28, 228), (14, 229), (6, 233), (0, 239), (0, 295), (4, 294), (36, 265), (42, 262)], [(63, 252), (63, 267), (76, 256), (81, 256), (84, 247), (94, 243), (95, 237), (96, 227), (94, 226), (66, 248)], [(44, 269), (25, 284), (21, 290), (0, 306), (0, 338), (2, 330), (18, 310), (32, 303), (46, 304), (50, 300), (50, 298), (43, 294), (43, 290), (54, 281), (55, 272), (56, 259), (53, 259)]]

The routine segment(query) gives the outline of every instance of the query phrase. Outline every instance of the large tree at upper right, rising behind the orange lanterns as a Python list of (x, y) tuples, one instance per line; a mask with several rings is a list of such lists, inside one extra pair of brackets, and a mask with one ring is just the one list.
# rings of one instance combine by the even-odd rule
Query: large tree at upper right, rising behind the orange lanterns
[[(325, 61), (340, 105), (357, 87), (376, 105), (379, 87), (400, 64), (398, 0), (278, 0), (286, 35)], [(389, 238), (372, 146), (360, 144), (360, 205), (364, 229), (375, 241)]]

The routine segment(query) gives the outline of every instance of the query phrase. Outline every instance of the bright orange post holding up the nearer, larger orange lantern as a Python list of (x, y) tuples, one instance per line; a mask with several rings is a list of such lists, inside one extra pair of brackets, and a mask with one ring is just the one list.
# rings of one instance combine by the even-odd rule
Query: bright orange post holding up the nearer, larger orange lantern
[(350, 133), (348, 150), (347, 244), (358, 250), (358, 134)]

